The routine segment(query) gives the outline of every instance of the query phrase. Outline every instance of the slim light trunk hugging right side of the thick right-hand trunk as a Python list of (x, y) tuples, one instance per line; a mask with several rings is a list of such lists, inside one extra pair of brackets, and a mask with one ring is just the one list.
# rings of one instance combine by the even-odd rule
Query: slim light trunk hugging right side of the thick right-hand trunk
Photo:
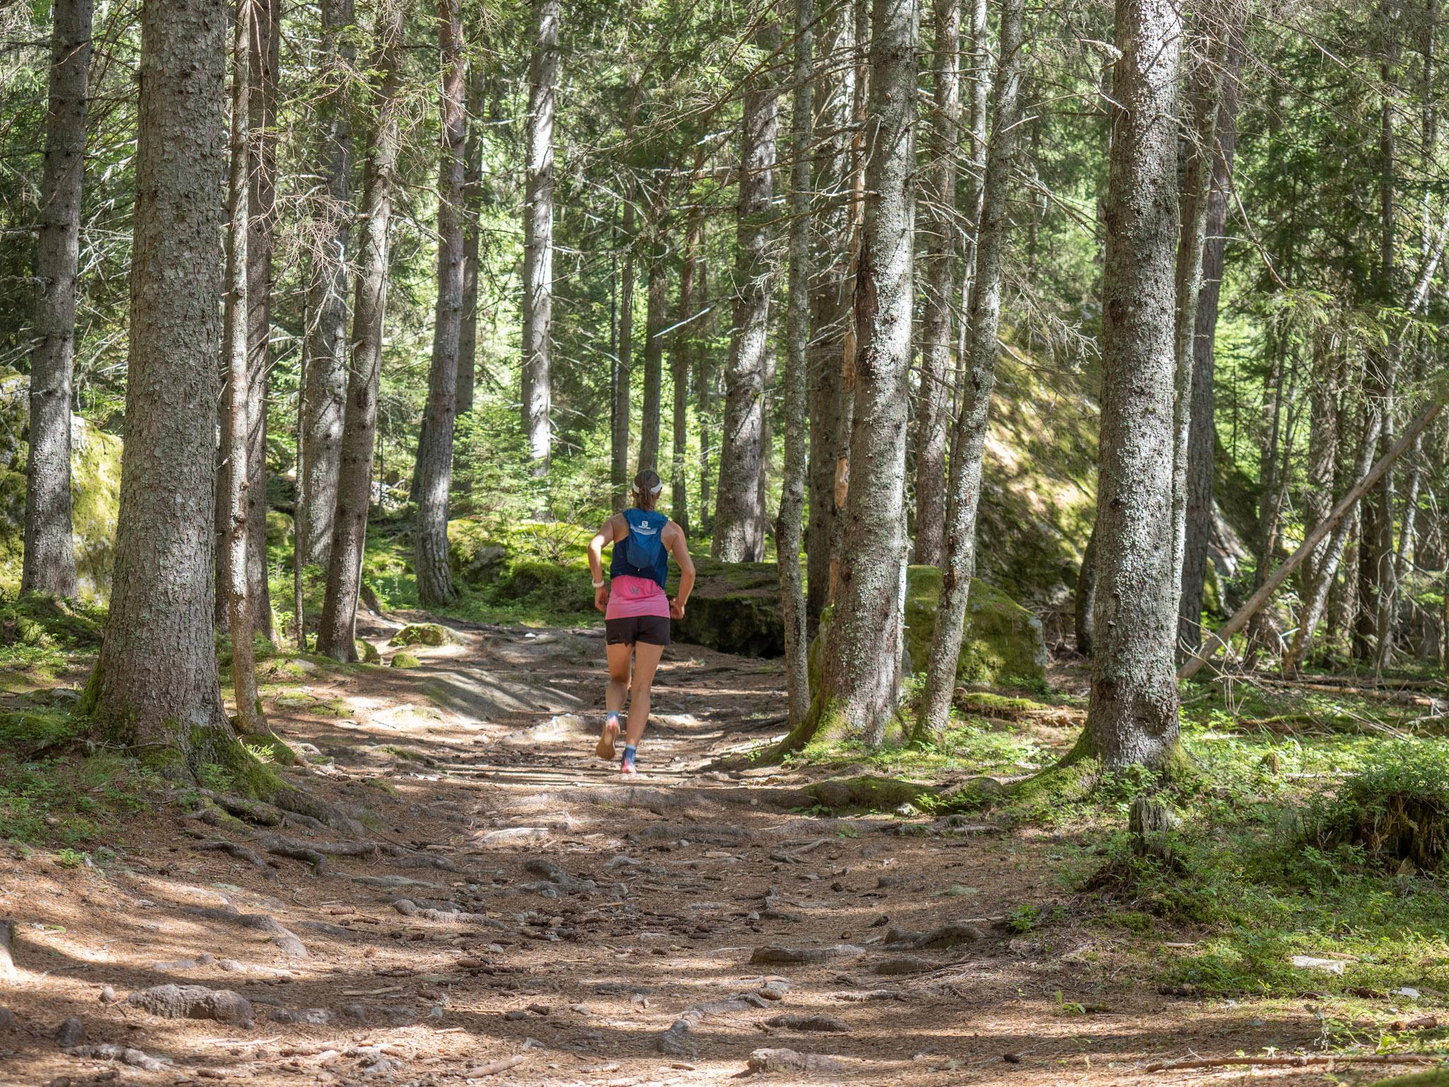
[[(1174, 400), (1172, 445), (1172, 584), (1181, 594), (1187, 558), (1188, 475), (1191, 474), (1193, 378), (1197, 371), (1197, 309), (1203, 290), (1203, 255), (1207, 220), (1211, 212), (1213, 164), (1217, 161), (1217, 113), (1223, 100), (1223, 51), (1227, 28), (1214, 16), (1200, 12), (1190, 35), (1191, 71), (1187, 96), (1187, 161), (1178, 197), (1181, 235), (1178, 239), (1174, 291), (1174, 355), (1177, 390)], [(1211, 423), (1208, 423), (1211, 425)], [(1174, 610), (1181, 617), (1182, 601)], [(1201, 601), (1198, 603), (1201, 612)], [(1178, 623), (1181, 626), (1181, 622)]]

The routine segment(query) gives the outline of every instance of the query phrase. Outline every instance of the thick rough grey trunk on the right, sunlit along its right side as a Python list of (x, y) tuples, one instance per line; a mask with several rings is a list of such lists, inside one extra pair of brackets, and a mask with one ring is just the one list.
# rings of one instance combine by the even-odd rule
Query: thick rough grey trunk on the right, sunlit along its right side
[(1168, 771), (1178, 752), (1172, 668), (1174, 264), (1182, 17), (1117, 0), (1103, 270), (1097, 593), (1084, 748), (1110, 768)]

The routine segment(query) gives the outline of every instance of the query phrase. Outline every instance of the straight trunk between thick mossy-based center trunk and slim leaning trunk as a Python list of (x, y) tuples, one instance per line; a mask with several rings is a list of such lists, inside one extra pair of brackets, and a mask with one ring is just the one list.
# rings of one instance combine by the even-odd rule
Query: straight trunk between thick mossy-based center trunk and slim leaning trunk
[(916, 400), (916, 562), (939, 565), (946, 516), (946, 428), (953, 387), (952, 304), (956, 294), (956, 125), (961, 116), (961, 0), (935, 0), (935, 99), (926, 157), (926, 268)]

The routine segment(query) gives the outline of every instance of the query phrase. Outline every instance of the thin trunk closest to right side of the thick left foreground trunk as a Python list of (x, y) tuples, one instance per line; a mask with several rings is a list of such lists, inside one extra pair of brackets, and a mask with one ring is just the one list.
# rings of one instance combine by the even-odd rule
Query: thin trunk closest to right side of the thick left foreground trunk
[(226, 358), (226, 403), (222, 409), (222, 484), (227, 525), (222, 536), (222, 578), (226, 586), (226, 629), (232, 638), (232, 691), (236, 701), (236, 730), (265, 733), (261, 699), (256, 694), (256, 658), (252, 651), (251, 588), (246, 577), (246, 522), (251, 515), (248, 491), (248, 293), (251, 270), (251, 194), (248, 167), (251, 155), (251, 119), (246, 109), (251, 93), (252, 51), (248, 39), (254, 25), (264, 17), (258, 0), (238, 0), (235, 45), (232, 49), (232, 161), (227, 178), (226, 228), (226, 299), (222, 310), (223, 355)]

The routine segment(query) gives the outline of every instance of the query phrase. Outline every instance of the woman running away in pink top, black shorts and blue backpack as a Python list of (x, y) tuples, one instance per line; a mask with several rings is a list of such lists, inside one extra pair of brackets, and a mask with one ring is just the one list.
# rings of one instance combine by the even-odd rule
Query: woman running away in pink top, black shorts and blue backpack
[[(620, 774), (635, 774), (635, 751), (649, 723), (649, 688), (659, 667), (664, 646), (669, 644), (669, 619), (684, 619), (684, 604), (694, 588), (694, 559), (684, 539), (684, 529), (655, 510), (664, 483), (658, 474), (635, 475), (630, 491), (633, 509), (616, 513), (600, 525), (588, 542), (588, 568), (594, 571), (594, 607), (604, 613), (604, 642), (609, 652), (609, 690), (604, 694), (604, 729), (594, 754), (614, 757), (619, 739), (619, 715), (629, 696), (629, 725), (625, 729), (625, 755)], [(603, 549), (613, 544), (609, 584), (604, 584)], [(669, 555), (680, 564), (680, 591), (669, 600), (664, 583)], [(633, 658), (633, 681), (629, 658)]]

